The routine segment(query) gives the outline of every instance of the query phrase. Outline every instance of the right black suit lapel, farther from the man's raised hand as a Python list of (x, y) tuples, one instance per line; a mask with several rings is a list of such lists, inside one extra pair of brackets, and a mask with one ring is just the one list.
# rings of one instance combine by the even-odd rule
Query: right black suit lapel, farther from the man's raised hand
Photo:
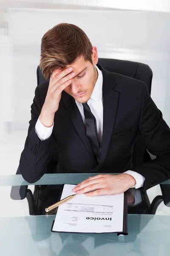
[(113, 73), (110, 73), (101, 67), (99, 68), (102, 69), (103, 74), (103, 134), (101, 160), (99, 163), (102, 164), (108, 152), (111, 134), (116, 120), (119, 92), (113, 90), (113, 87), (116, 85), (113, 79)]

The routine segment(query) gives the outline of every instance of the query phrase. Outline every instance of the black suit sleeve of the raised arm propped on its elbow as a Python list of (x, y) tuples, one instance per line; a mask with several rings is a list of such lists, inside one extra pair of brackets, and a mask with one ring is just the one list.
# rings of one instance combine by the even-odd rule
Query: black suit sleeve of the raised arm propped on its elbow
[(23, 178), (34, 183), (39, 180), (47, 170), (47, 165), (51, 159), (50, 146), (53, 136), (41, 141), (35, 132), (35, 125), (41, 112), (41, 102), (38, 86), (35, 90), (33, 104), (31, 105), (31, 121), (29, 122), (28, 136), (24, 150), (20, 157), (20, 171)]

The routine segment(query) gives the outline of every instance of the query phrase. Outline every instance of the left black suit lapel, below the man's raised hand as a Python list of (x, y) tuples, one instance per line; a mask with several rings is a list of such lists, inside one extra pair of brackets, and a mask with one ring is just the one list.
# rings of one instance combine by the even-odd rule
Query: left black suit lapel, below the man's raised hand
[(89, 153), (93, 157), (94, 161), (94, 152), (93, 148), (91, 147), (91, 143), (88, 140), (88, 137), (85, 134), (85, 125), (82, 120), (82, 116), (79, 112), (79, 109), (77, 107), (77, 104), (73, 97), (71, 97), (68, 93), (65, 93), (65, 91), (62, 92), (62, 102), (65, 105), (65, 108), (68, 112), (68, 115), (71, 119), (72, 124), (74, 125), (77, 133), (79, 134), (80, 138), (82, 139), (83, 143), (85, 144), (86, 148), (88, 149)]

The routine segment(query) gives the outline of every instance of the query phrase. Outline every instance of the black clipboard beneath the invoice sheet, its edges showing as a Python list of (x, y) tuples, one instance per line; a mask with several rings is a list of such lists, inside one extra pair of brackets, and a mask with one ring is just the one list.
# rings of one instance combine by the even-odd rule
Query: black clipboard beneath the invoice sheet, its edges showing
[[(64, 187), (64, 184), (62, 184), (62, 189)], [(62, 195), (62, 189), (60, 191), (60, 195), (59, 195), (59, 198), (61, 199), (61, 195)], [(59, 200), (60, 200), (59, 199)], [(55, 221), (55, 220), (54, 220)], [(52, 226), (51, 226), (51, 232), (52, 233), (67, 233), (67, 234), (89, 234), (92, 235), (92, 234), (97, 234), (97, 233), (85, 233), (85, 232), (65, 232), (65, 231), (54, 231), (53, 230), (53, 226), (54, 226), (54, 221), (52, 223)], [(99, 233), (99, 234), (107, 234), (107, 233), (117, 233), (117, 236), (127, 236), (128, 235), (128, 230), (127, 230), (127, 192), (124, 192), (124, 207), (123, 207), (123, 230), (122, 232), (103, 232), (103, 233)]]

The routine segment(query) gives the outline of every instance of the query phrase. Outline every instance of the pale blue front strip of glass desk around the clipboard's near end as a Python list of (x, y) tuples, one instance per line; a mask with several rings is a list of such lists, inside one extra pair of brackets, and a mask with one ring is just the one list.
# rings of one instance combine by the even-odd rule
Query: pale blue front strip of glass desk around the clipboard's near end
[(128, 215), (128, 235), (51, 233), (55, 216), (0, 218), (1, 255), (169, 255), (170, 217)]

